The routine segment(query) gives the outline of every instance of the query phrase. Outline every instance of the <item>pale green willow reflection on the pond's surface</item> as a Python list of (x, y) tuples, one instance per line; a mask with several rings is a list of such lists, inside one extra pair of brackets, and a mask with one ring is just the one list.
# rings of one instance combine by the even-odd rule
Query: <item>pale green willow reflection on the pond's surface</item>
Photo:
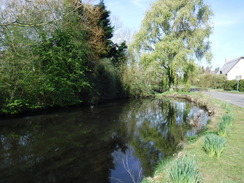
[(191, 107), (171, 100), (143, 100), (139, 104), (131, 102), (122, 113), (129, 144), (140, 159), (145, 176), (153, 172), (160, 159), (177, 151), (191, 130), (187, 123)]

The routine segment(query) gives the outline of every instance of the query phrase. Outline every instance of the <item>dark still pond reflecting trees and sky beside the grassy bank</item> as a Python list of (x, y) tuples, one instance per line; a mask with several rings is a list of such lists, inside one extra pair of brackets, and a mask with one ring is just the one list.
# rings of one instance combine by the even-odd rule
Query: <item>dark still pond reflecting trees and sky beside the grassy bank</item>
[(140, 182), (207, 120), (204, 110), (169, 99), (1, 120), (0, 183)]

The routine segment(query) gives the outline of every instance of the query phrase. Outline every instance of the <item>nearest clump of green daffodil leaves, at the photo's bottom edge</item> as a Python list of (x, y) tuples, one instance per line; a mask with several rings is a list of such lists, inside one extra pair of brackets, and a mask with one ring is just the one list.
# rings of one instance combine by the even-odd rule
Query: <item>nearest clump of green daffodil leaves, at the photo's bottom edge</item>
[(170, 170), (173, 183), (199, 183), (200, 174), (192, 158), (185, 156), (178, 159)]

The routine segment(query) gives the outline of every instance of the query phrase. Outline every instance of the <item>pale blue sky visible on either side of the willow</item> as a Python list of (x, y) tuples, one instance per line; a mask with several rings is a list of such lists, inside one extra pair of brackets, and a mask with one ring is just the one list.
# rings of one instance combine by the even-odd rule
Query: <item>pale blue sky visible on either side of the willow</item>
[[(139, 30), (143, 17), (156, 0), (104, 0), (111, 17), (116, 17), (132, 32)], [(225, 59), (244, 56), (244, 0), (205, 0), (214, 12), (212, 42), (213, 69)], [(207, 66), (207, 64), (202, 63)]]

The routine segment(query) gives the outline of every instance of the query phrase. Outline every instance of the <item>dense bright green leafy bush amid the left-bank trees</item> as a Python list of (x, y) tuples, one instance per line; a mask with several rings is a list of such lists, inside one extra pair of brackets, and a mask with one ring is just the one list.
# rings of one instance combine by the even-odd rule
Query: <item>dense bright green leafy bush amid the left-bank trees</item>
[(90, 87), (85, 73), (89, 71), (86, 55), (91, 50), (85, 41), (85, 32), (56, 30), (51, 39), (35, 48), (48, 86), (40, 91), (45, 93), (46, 105), (81, 102), (78, 93)]

